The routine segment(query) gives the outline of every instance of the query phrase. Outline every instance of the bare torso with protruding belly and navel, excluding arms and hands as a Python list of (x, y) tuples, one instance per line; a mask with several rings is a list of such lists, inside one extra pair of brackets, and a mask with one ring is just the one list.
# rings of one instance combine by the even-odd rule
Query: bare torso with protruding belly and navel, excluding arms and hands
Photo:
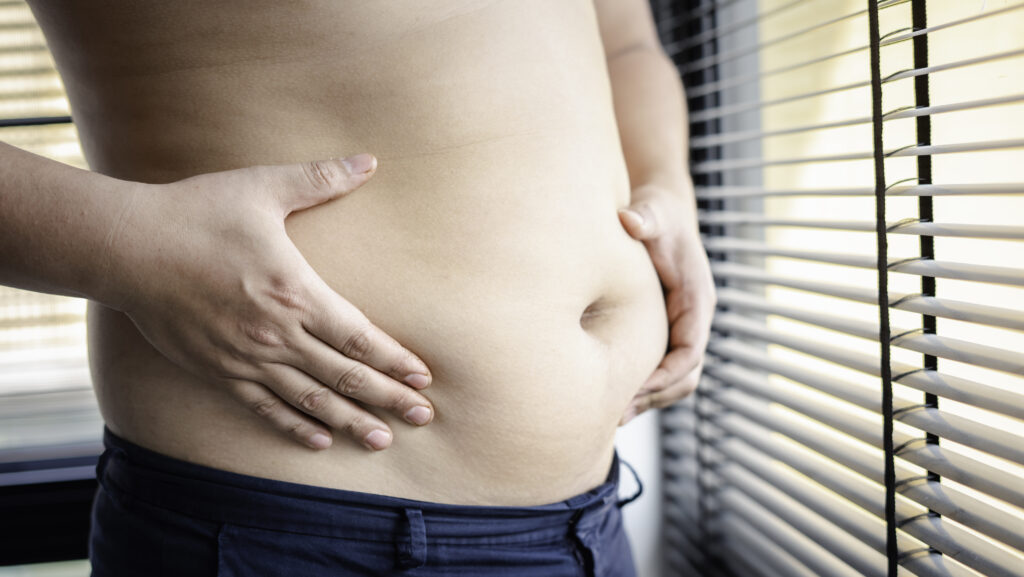
[(433, 374), (430, 425), (375, 411), (390, 449), (337, 436), (314, 452), (92, 304), (115, 432), (218, 468), (440, 502), (538, 504), (603, 480), (668, 326), (647, 253), (615, 213), (630, 190), (590, 0), (34, 10), (98, 172), (166, 182), (374, 153), (369, 183), (288, 232)]

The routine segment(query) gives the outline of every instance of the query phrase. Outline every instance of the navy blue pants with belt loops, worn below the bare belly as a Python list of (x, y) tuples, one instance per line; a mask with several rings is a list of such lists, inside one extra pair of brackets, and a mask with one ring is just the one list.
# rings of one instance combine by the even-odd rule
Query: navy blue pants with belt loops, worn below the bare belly
[(492, 507), (227, 472), (110, 430), (103, 442), (89, 543), (94, 577), (636, 575), (618, 510), (632, 499), (617, 498), (617, 456), (591, 491)]

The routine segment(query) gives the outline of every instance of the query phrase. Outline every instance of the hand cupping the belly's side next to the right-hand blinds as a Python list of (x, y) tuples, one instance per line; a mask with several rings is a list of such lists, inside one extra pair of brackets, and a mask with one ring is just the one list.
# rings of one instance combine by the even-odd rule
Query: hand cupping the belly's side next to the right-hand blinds
[(715, 281), (686, 191), (645, 186), (633, 191), (618, 219), (643, 242), (665, 289), (669, 352), (630, 402), (620, 425), (651, 407), (663, 408), (697, 386), (715, 314)]

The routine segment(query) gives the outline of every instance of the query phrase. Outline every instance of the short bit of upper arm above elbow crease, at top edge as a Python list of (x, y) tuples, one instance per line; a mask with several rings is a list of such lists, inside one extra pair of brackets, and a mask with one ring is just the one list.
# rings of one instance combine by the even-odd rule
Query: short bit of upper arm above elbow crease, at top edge
[(662, 51), (648, 0), (594, 0), (607, 59), (634, 50)]

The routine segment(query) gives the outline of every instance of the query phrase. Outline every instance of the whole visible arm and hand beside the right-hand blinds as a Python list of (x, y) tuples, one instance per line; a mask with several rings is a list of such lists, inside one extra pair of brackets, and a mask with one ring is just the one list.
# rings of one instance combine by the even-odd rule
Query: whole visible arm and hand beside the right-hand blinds
[(643, 241), (666, 290), (669, 353), (622, 424), (696, 388), (715, 312), (715, 283), (700, 244), (679, 75), (651, 26), (646, 2), (597, 0), (615, 119), (630, 173), (623, 226)]

